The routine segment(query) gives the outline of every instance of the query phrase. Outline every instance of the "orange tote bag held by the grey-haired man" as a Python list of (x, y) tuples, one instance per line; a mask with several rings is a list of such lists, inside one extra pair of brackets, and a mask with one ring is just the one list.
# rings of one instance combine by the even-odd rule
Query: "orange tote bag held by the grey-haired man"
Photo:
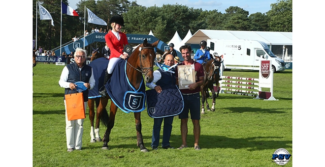
[(68, 120), (85, 119), (85, 103), (83, 93), (65, 95), (65, 106)]

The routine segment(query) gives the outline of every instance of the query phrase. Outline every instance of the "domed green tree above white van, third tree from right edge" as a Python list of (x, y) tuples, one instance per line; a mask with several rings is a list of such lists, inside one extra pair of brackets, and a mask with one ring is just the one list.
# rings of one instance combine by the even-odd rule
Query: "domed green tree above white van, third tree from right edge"
[(230, 6), (226, 9), (224, 29), (226, 30), (250, 30), (251, 23), (248, 19), (249, 12), (238, 7)]

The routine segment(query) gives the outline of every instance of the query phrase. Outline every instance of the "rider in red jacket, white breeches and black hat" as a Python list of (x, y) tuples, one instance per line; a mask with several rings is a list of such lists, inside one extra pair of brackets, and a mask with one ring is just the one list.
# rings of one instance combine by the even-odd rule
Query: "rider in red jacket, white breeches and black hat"
[[(124, 26), (124, 20), (120, 15), (114, 15), (109, 20), (109, 23), (112, 27), (111, 30), (105, 35), (105, 42), (108, 48), (111, 51), (111, 55), (109, 56), (109, 62), (107, 66), (107, 70), (105, 72), (104, 85), (111, 78), (115, 64), (121, 58), (127, 59), (129, 54), (123, 52), (123, 49), (126, 45), (129, 44), (127, 35), (121, 32), (122, 26)], [(106, 97), (106, 89), (99, 91), (101, 97)]]

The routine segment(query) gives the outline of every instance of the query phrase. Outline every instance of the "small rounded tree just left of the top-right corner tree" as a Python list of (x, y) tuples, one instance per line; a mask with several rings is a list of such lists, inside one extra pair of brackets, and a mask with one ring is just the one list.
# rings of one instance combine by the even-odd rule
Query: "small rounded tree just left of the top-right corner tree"
[(269, 31), (269, 17), (266, 14), (257, 12), (249, 15), (248, 18), (252, 23), (251, 31)]

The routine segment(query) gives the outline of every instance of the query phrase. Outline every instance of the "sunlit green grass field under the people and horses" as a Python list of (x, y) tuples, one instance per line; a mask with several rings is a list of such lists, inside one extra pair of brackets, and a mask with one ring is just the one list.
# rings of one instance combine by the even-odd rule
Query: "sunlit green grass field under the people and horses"
[[(150, 148), (153, 119), (142, 111), (142, 134), (148, 153), (136, 146), (132, 113), (118, 110), (109, 150), (90, 143), (89, 112), (84, 121), (82, 151), (66, 151), (64, 88), (58, 82), (64, 66), (38, 62), (33, 68), (32, 163), (34, 167), (275, 167), (272, 154), (285, 148), (292, 154), (292, 70), (274, 74), (278, 101), (220, 94), (216, 111), (201, 116), (200, 151), (194, 150), (189, 121), (188, 146), (182, 150)], [(258, 71), (232, 70), (226, 76), (258, 78)], [(211, 99), (208, 99), (211, 104)], [(108, 107), (107, 107), (108, 109)], [(105, 132), (100, 126), (100, 136)], [(161, 131), (162, 134), (162, 131)], [(162, 140), (162, 139), (161, 139)], [(182, 144), (180, 120), (174, 117), (171, 146)], [(161, 144), (161, 143), (160, 143)], [(292, 158), (290, 159), (292, 161)], [(286, 164), (292, 167), (292, 162)]]

